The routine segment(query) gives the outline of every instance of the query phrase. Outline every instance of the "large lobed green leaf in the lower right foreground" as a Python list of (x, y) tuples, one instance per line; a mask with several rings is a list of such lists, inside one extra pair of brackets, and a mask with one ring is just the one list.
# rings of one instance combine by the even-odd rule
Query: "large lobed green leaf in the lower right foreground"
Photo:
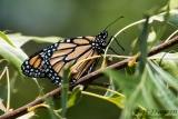
[(167, 83), (178, 91), (178, 81), (151, 61), (146, 63), (145, 71), (138, 77), (126, 77), (119, 71), (109, 69), (103, 72), (111, 77), (126, 95), (125, 109), (121, 113), (122, 119), (129, 118), (130, 109), (138, 106), (144, 107), (146, 110), (160, 109), (160, 107), (165, 110), (172, 110), (178, 107), (176, 95), (166, 86)]

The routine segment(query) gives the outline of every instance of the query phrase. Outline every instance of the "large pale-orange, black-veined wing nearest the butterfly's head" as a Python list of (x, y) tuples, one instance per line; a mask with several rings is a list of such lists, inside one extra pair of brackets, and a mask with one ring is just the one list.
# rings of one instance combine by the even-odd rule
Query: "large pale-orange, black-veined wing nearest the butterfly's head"
[[(81, 43), (85, 42), (85, 43)], [(70, 47), (65, 47), (70, 46)], [(77, 46), (77, 47), (76, 47)], [(57, 49), (51, 53), (51, 59), (47, 61), (47, 67), (50, 67), (47, 77), (58, 86), (61, 85), (63, 69), (69, 66), (92, 57), (95, 51), (91, 49), (91, 44), (88, 39), (67, 39), (58, 43)], [(96, 52), (97, 53), (97, 52)], [(87, 65), (87, 66), (86, 66)], [(90, 63), (78, 63), (72, 70), (78, 70), (77, 75), (71, 77), (70, 83), (81, 76), (80, 73), (87, 70)]]

